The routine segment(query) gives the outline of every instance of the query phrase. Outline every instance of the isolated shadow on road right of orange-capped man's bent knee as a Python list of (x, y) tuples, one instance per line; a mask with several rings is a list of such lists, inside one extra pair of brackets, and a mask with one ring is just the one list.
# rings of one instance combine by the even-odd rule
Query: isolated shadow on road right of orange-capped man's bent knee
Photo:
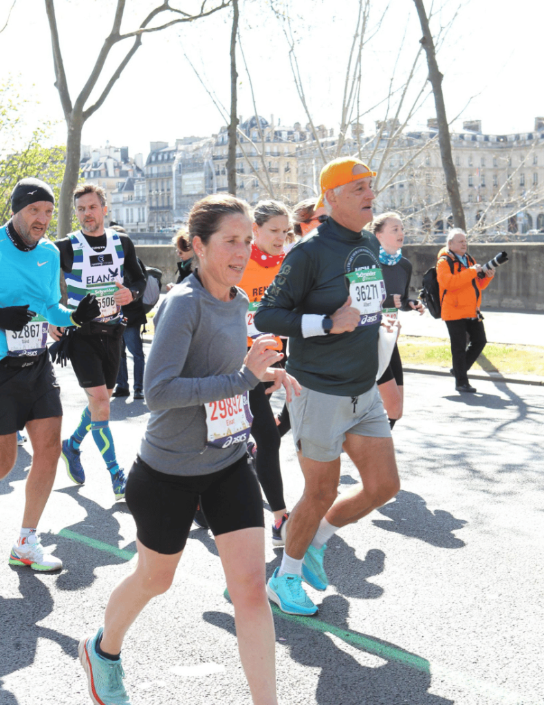
[(373, 525), (385, 531), (421, 539), (438, 548), (463, 548), (466, 545), (452, 533), (462, 529), (466, 521), (441, 509), (431, 512), (425, 500), (413, 492), (400, 490), (394, 501), (376, 511), (392, 520), (372, 520)]

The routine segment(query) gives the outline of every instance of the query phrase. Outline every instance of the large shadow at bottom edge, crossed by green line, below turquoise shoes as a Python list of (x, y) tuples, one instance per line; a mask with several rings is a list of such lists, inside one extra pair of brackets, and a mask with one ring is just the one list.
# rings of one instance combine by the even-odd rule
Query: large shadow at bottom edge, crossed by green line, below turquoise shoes
[[(425, 658), (350, 630), (348, 612), (349, 603), (340, 595), (326, 597), (316, 617), (286, 615), (273, 606), (278, 646), (290, 649), (301, 666), (321, 668), (316, 689), (320, 705), (453, 705), (428, 693), (431, 668)], [(203, 618), (235, 635), (231, 615), (205, 612)]]

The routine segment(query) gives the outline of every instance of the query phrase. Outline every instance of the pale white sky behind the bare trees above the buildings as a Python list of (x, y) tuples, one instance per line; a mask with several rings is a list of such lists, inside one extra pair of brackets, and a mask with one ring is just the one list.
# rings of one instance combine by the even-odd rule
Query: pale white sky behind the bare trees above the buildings
[[(0, 0), (0, 28), (4, 26), (11, 2)], [(314, 123), (335, 128), (336, 133), (358, 2), (274, 2), (276, 7), (290, 14), (292, 27), (297, 32), (297, 60)], [(459, 7), (438, 53), (448, 118), (452, 121), (462, 113), (452, 128), (461, 129), (463, 120), (481, 119), (483, 131), (487, 133), (533, 130), (535, 116), (544, 114), (537, 54), (544, 19), (540, 3), (518, 0), (515, 4), (505, 4), (504, 9), (490, 0), (462, 0), (462, 6), (452, 0), (442, 0), (442, 3), (443, 11), (431, 20), (433, 33), (438, 32), (440, 20), (447, 23)], [(149, 11), (155, 4), (154, 0), (127, 3), (134, 17), (140, 19), (145, 14), (142, 8)], [(435, 7), (439, 4), (435, 2)], [(68, 85), (75, 100), (109, 32), (115, 3), (113, 0), (56, 0), (55, 5)], [(282, 124), (299, 121), (305, 125), (307, 118), (295, 90), (288, 45), (280, 21), (271, 13), (270, 0), (241, 0), (240, 5), (242, 47), (251, 73), (257, 111), (267, 120), (273, 114)], [(430, 5), (426, 1), (427, 9)], [(187, 8), (194, 6), (194, 2), (179, 0), (178, 6)], [(385, 114), (383, 101), (390, 82), (397, 89), (403, 85), (421, 37), (412, 0), (391, 0), (383, 23), (376, 31), (378, 14), (385, 6), (385, 1), (371, 5), (369, 32), (375, 34), (363, 51), (361, 106), (366, 110), (382, 102), (361, 118), (367, 131), (371, 130), (373, 121)], [(136, 25), (129, 20), (125, 23), (126, 30)], [(195, 78), (184, 54), (190, 57), (202, 72), (206, 85), (228, 108), (229, 42), (230, 11), (144, 37), (142, 47), (104, 105), (86, 123), (83, 143), (94, 147), (104, 146), (106, 141), (117, 147), (128, 145), (132, 156), (143, 152), (147, 157), (150, 141), (173, 143), (176, 137), (205, 137), (217, 133), (224, 121)], [(37, 124), (38, 118), (59, 121), (55, 141), (64, 142), (66, 127), (54, 87), (49, 25), (43, 0), (17, 0), (8, 27), (0, 34), (0, 49), (0, 82), (11, 80), (18, 87), (20, 97), (30, 101), (24, 113), (29, 128)], [(112, 62), (111, 66), (114, 65)], [(238, 114), (247, 118), (254, 109), (240, 52), (238, 74)], [(422, 54), (419, 73), (409, 95), (419, 92), (425, 76), (426, 60)], [(426, 91), (429, 90), (427, 84)], [(401, 120), (405, 115), (406, 109), (400, 113)], [(428, 97), (411, 125), (424, 125), (426, 119), (434, 115), (433, 99)]]

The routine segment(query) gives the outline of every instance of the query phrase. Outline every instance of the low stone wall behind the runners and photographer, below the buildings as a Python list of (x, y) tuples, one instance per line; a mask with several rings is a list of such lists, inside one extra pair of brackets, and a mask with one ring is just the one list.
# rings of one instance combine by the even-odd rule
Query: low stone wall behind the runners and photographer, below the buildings
[[(402, 248), (402, 254), (414, 267), (414, 298), (421, 287), (423, 275), (436, 264), (439, 250), (440, 245), (405, 245)], [(476, 262), (484, 264), (502, 250), (507, 252), (509, 261), (496, 270), (495, 278), (483, 293), (483, 308), (544, 310), (544, 243), (475, 244), (469, 252)], [(136, 251), (142, 262), (162, 269), (163, 285), (175, 281), (176, 259), (172, 245), (136, 245)]]

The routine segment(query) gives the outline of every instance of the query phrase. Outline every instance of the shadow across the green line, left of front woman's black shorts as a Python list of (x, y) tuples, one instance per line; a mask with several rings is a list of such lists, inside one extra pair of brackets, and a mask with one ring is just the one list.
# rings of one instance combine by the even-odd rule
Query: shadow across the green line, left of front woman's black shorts
[[(60, 534), (41, 534), (44, 546), (56, 543), (56, 555), (64, 564), (58, 576), (56, 587), (59, 590), (80, 590), (92, 585), (96, 579), (95, 568), (104, 565), (126, 563), (136, 553), (136, 540), (119, 549), (123, 537), (119, 534), (118, 513), (130, 513), (124, 502), (104, 509), (101, 505), (78, 492), (78, 487), (63, 487), (56, 490), (72, 496), (85, 509), (87, 516), (81, 522), (62, 530)], [(63, 535), (63, 532), (66, 534)], [(136, 527), (133, 527), (136, 537)], [(69, 537), (69, 534), (77, 534)], [(78, 537), (81, 537), (78, 540)]]

